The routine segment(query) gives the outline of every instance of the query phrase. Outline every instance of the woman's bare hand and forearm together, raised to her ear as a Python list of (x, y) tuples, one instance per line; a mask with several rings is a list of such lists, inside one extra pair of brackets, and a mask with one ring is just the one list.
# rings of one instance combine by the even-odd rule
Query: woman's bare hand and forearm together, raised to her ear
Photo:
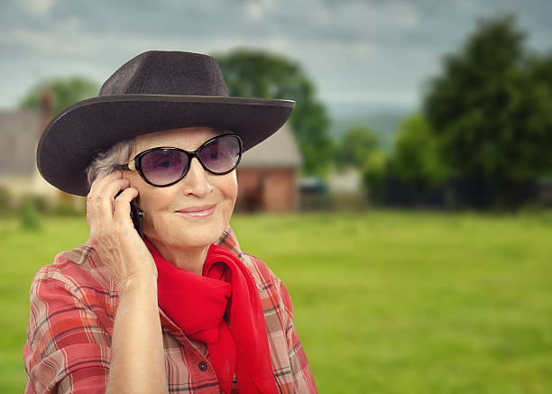
[(122, 171), (102, 174), (87, 197), (89, 243), (109, 269), (119, 295), (106, 393), (167, 393), (157, 269), (133, 227), (130, 202), (138, 190), (129, 186)]

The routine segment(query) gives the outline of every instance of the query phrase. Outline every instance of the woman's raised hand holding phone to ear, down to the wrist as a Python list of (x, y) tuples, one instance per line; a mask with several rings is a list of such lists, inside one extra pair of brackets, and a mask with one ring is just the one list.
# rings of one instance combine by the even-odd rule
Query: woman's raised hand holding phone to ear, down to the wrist
[[(122, 171), (100, 174), (87, 196), (89, 243), (96, 249), (115, 281), (119, 296), (141, 284), (157, 281), (152, 254), (133, 227), (130, 203), (138, 189), (130, 188)], [(122, 193), (115, 195), (123, 190)]]

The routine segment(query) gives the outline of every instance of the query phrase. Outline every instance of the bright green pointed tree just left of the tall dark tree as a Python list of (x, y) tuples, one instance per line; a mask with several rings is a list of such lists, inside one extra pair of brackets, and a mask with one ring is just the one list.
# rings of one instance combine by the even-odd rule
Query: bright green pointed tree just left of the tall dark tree
[(447, 170), (439, 153), (437, 138), (431, 133), (426, 118), (411, 115), (402, 121), (395, 136), (391, 175), (422, 188), (442, 184)]

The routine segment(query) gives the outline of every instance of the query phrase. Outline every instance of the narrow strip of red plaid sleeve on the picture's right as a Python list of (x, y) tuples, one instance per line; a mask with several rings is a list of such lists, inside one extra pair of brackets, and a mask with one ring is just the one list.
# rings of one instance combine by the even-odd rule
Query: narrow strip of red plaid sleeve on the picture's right
[(312, 372), (308, 366), (307, 355), (303, 350), (299, 335), (293, 325), (293, 305), (291, 303), (290, 293), (281, 281), (281, 298), (284, 307), (289, 316), (286, 328), (286, 342), (288, 344), (288, 354), (290, 355), (291, 373), (293, 374), (293, 389), (296, 393), (317, 393)]

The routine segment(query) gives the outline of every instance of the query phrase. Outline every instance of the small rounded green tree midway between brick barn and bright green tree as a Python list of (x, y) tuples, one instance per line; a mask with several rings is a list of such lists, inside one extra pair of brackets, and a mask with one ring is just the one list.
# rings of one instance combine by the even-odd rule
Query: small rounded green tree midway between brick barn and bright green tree
[(362, 125), (354, 126), (343, 134), (336, 149), (336, 163), (339, 167), (362, 169), (378, 145), (378, 136), (372, 130)]

